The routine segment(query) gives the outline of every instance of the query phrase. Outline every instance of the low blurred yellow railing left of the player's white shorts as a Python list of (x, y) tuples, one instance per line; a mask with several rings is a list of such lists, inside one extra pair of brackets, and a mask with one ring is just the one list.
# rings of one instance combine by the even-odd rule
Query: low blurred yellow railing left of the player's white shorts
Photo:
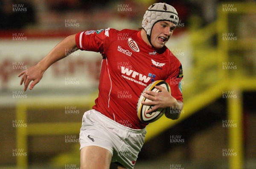
[[(81, 128), (80, 122), (55, 122), (55, 123), (27, 123), (27, 111), (39, 109), (64, 109), (67, 105), (74, 105), (90, 110), (94, 104), (96, 93), (90, 96), (68, 97), (40, 97), (22, 100), (16, 107), (16, 118), (22, 120), (26, 127), (17, 127), (16, 148), (28, 152), (28, 136), (35, 135), (65, 135), (78, 134)], [(17, 168), (28, 168), (28, 156), (17, 156)]]

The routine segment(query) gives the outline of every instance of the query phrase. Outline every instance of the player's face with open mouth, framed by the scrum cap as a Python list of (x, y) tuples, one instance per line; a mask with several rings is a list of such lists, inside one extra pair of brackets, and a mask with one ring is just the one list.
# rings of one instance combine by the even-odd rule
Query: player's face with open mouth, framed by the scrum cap
[(175, 29), (175, 24), (169, 21), (157, 22), (151, 32), (151, 43), (155, 48), (163, 48)]

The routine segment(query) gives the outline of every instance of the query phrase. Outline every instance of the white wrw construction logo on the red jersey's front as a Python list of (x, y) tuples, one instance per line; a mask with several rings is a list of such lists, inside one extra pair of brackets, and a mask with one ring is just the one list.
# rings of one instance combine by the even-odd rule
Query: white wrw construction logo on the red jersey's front
[[(156, 75), (152, 74), (152, 73), (148, 73), (148, 76), (145, 76), (143, 74), (140, 74), (134, 70), (125, 68), (123, 66), (121, 66), (121, 72), (122, 72), (122, 77), (125, 79), (128, 79), (132, 82), (138, 83), (139, 85), (143, 85), (143, 86), (147, 86), (145, 83), (151, 81), (154, 82), (154, 79), (156, 77)], [(139, 80), (135, 80), (138, 79)]]

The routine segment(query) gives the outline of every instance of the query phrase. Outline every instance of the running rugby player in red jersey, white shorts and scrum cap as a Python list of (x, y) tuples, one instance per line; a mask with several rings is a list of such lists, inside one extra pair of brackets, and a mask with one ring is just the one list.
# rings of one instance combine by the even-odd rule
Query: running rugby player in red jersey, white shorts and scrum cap
[[(102, 55), (99, 96), (93, 109), (85, 112), (82, 119), (81, 169), (108, 169), (111, 163), (118, 163), (119, 169), (133, 169), (144, 144), (147, 125), (137, 117), (137, 101), (151, 82), (165, 80), (171, 94), (161, 86), (156, 87), (160, 93), (145, 91), (143, 95), (151, 101), (143, 104), (154, 106), (147, 113), (171, 107), (179, 113), (166, 111), (166, 117), (179, 118), (183, 109), (182, 66), (165, 46), (178, 21), (174, 7), (155, 3), (146, 11), (141, 30), (105, 28), (70, 35), (37, 65), (18, 75), (22, 76), (20, 85), (24, 84), (24, 91), (27, 87), (32, 90), (50, 65), (66, 57), (65, 49), (95, 51)], [(120, 35), (126, 37), (120, 40)], [(124, 62), (125, 65), (119, 64)], [(120, 91), (129, 93), (129, 98), (120, 99)]]

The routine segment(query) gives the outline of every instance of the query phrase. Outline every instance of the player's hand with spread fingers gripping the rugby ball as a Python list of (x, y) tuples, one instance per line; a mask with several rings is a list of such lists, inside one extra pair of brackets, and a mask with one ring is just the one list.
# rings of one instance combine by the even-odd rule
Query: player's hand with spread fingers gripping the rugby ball
[(147, 114), (157, 110), (158, 108), (172, 107), (177, 102), (177, 100), (163, 86), (155, 86), (155, 88), (161, 90), (161, 92), (157, 93), (146, 90), (143, 93), (143, 97), (151, 101), (142, 101), (141, 103), (147, 106), (154, 106), (150, 110), (146, 111)]

